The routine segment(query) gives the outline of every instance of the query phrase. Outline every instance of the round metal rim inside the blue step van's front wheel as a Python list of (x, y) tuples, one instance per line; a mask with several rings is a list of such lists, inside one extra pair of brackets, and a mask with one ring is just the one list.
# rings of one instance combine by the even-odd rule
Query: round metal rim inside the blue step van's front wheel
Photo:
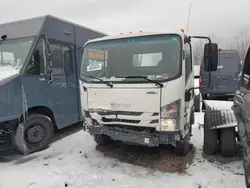
[(44, 135), (43, 127), (41, 125), (34, 125), (26, 130), (26, 141), (35, 144), (40, 142)]

